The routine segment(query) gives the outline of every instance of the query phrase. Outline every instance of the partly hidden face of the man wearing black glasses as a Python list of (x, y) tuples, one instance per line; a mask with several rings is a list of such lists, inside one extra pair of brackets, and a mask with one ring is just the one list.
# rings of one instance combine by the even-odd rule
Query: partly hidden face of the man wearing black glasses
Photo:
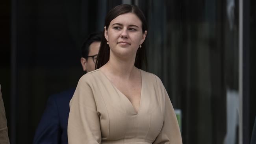
[[(99, 49), (100, 49), (100, 42), (91, 43), (91, 45), (89, 46), (88, 56), (98, 54)], [(97, 56), (95, 56), (95, 58), (96, 57)], [(88, 57), (87, 64), (85, 66), (86, 66), (86, 72), (91, 72), (91, 71), (95, 70), (95, 63), (93, 62), (93, 57)]]

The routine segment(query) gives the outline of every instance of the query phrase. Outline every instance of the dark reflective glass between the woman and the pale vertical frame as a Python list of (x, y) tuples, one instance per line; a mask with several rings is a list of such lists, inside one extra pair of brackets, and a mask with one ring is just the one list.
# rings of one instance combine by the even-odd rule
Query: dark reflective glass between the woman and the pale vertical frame
[(184, 144), (234, 144), (238, 135), (237, 0), (139, 1), (148, 69), (181, 110)]

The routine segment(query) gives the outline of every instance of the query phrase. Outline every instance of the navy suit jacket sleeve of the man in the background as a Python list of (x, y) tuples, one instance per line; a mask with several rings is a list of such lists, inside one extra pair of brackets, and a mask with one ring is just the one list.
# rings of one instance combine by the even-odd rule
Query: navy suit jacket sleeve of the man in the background
[(61, 129), (58, 109), (54, 96), (50, 96), (48, 98), (45, 112), (37, 126), (37, 130), (35, 131), (33, 144), (59, 144), (60, 133)]

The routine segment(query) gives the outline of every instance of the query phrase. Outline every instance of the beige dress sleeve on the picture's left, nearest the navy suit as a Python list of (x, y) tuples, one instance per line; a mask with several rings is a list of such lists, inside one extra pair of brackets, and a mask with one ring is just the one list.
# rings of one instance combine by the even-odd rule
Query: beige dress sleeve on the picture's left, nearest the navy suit
[(90, 84), (90, 75), (80, 78), (70, 101), (68, 120), (69, 144), (100, 144), (100, 120)]

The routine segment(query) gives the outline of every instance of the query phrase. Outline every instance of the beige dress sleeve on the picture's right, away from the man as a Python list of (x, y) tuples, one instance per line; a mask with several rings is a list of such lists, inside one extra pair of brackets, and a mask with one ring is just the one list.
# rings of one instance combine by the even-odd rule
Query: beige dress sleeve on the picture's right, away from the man
[(176, 114), (173, 109), (173, 105), (163, 85), (161, 86), (160, 89), (164, 94), (164, 120), (161, 131), (159, 135), (156, 137), (153, 144), (182, 144), (180, 128), (178, 125)]

